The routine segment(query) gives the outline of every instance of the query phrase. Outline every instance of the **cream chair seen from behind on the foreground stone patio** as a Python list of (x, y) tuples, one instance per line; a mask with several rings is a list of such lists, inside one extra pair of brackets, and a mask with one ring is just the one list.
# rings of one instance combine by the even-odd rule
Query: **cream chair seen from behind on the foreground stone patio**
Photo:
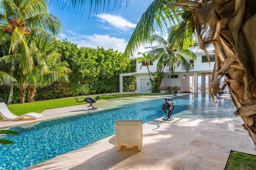
[(122, 146), (126, 149), (142, 148), (142, 120), (116, 120), (116, 147), (120, 151)]

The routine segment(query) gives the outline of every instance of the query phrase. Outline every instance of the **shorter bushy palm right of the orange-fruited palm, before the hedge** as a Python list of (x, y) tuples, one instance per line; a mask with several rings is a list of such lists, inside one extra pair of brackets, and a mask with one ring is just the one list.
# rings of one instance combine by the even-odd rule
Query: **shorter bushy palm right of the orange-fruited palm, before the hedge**
[(38, 37), (30, 43), (34, 60), (34, 68), (28, 75), (28, 102), (32, 102), (36, 87), (46, 86), (52, 82), (68, 82), (68, 73), (71, 72), (67, 63), (58, 63), (59, 49), (55, 40), (44, 36)]

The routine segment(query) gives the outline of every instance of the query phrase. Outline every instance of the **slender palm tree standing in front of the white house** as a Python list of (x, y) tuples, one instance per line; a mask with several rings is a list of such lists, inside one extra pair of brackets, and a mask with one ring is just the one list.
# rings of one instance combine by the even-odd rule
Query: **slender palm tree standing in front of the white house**
[[(186, 55), (192, 60), (196, 60), (197, 56), (193, 53), (193, 51), (190, 51), (186, 46), (182, 47), (180, 45), (180, 41), (174, 40), (174, 35), (176, 33), (176, 27), (172, 27), (170, 31), (168, 31), (168, 39), (167, 41), (158, 36), (154, 35), (151, 39), (152, 42), (157, 42), (159, 45), (162, 45), (162, 47), (154, 49), (150, 52), (150, 55), (154, 56), (154, 60), (158, 60), (158, 67), (160, 67), (162, 64), (164, 64), (164, 67), (166, 66), (166, 63), (169, 66), (169, 86), (171, 86), (171, 75), (174, 75), (174, 70), (180, 64), (184, 66), (186, 72), (190, 70), (190, 64), (188, 61), (183, 57), (183, 55)], [(186, 38), (186, 37), (185, 37)], [(182, 55), (183, 54), (183, 55)]]

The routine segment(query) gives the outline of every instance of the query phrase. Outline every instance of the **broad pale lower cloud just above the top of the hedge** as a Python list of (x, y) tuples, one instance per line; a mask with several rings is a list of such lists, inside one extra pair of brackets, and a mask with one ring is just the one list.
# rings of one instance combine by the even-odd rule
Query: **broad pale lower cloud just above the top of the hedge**
[[(74, 33), (75, 34), (75, 33)], [(78, 47), (104, 47), (105, 49), (112, 48), (124, 52), (127, 42), (125, 39), (111, 37), (110, 35), (79, 35), (69, 38), (72, 43), (76, 43)]]

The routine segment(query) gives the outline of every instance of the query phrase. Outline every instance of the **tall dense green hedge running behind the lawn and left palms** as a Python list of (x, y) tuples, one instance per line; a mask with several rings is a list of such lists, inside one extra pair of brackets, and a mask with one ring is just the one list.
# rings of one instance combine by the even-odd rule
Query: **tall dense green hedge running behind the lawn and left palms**
[[(58, 41), (58, 48), (62, 55), (60, 61), (68, 63), (72, 70), (70, 82), (56, 82), (51, 86), (36, 88), (35, 101), (119, 92), (119, 74), (136, 72), (136, 60), (127, 60), (122, 53), (113, 49), (78, 48), (66, 39)], [(136, 90), (135, 76), (126, 76), (123, 82), (124, 92)], [(8, 100), (9, 89), (8, 86), (0, 86), (0, 98), (4, 102)], [(12, 103), (18, 102), (19, 89), (14, 87)]]

